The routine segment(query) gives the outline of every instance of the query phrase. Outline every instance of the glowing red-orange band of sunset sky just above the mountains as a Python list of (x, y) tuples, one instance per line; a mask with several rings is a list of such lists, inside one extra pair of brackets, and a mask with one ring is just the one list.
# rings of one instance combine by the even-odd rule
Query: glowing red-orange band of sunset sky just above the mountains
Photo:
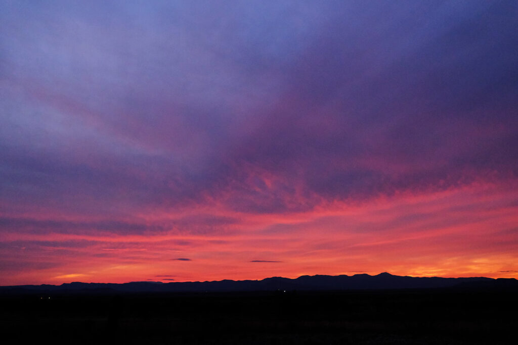
[[(512, 278), (518, 276), (514, 197), (509, 186), (474, 185), (354, 205), (335, 202), (300, 214), (219, 209), (219, 215), (239, 221), (209, 233), (174, 228), (145, 235), (4, 233), (2, 241), (35, 243), (34, 248), (13, 245), (12, 260), (36, 259), (55, 267), (12, 272), (2, 284), (242, 280), (348, 272)], [(164, 216), (147, 221), (161, 222)], [(170, 219), (179, 216), (169, 214)]]

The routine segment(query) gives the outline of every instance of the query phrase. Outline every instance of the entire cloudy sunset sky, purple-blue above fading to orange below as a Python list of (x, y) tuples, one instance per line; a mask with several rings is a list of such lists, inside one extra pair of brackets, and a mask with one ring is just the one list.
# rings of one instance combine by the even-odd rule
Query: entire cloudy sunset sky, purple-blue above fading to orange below
[(0, 285), (518, 278), (515, 1), (0, 2)]

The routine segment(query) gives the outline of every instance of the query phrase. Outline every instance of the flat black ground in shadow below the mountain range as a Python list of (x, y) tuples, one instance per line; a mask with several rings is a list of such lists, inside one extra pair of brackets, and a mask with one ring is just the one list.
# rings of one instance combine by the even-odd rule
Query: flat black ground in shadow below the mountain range
[[(49, 298), (50, 297), (50, 298)], [(510, 291), (0, 295), (4, 343), (515, 343)]]

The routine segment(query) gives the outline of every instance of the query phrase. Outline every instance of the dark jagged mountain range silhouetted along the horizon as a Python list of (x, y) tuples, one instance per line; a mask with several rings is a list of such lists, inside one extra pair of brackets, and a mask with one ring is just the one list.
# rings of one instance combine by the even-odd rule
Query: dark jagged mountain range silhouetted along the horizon
[(247, 292), (247, 291), (342, 291), (342, 290), (397, 290), (397, 289), (512, 289), (518, 290), (514, 278), (442, 278), (355, 274), (353, 276), (314, 275), (295, 279), (271, 277), (262, 280), (219, 280), (168, 282), (134, 281), (127, 283), (71, 282), (59, 286), (21, 285), (0, 287), (0, 293), (31, 292)]

